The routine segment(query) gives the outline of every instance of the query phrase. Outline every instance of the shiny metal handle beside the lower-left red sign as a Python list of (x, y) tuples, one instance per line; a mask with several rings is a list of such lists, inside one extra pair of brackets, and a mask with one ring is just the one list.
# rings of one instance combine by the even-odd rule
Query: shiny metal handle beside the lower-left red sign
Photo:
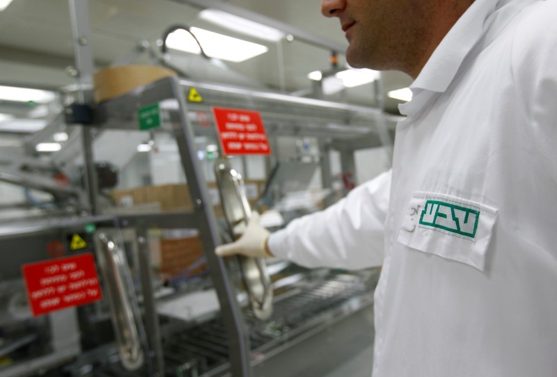
[(133, 371), (143, 364), (143, 350), (139, 337), (141, 318), (135, 314), (139, 313), (139, 307), (136, 300), (132, 300), (135, 294), (133, 287), (130, 287), (132, 275), (123, 250), (118, 248), (116, 242), (102, 232), (97, 234), (97, 239), (102, 246), (100, 266), (108, 291), (120, 361), (125, 369)]

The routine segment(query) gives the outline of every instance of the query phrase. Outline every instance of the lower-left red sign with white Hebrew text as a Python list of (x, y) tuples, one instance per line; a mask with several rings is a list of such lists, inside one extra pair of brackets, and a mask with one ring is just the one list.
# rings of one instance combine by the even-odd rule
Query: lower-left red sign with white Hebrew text
[(95, 259), (90, 252), (24, 264), (22, 271), (33, 316), (102, 298)]

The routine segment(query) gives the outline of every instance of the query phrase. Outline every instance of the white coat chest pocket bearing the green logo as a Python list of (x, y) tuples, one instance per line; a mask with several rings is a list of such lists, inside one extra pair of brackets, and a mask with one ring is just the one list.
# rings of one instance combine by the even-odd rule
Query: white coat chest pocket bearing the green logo
[(497, 210), (441, 193), (412, 195), (398, 242), (484, 271)]

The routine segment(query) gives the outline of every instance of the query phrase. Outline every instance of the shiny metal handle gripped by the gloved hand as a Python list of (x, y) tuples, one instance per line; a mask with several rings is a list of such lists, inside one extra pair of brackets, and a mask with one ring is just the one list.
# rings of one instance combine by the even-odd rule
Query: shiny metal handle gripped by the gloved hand
[[(251, 218), (244, 180), (226, 159), (217, 160), (214, 171), (230, 235), (237, 239)], [(257, 318), (268, 319), (272, 314), (273, 291), (267, 265), (261, 258), (240, 256), (239, 259), (251, 310)]]

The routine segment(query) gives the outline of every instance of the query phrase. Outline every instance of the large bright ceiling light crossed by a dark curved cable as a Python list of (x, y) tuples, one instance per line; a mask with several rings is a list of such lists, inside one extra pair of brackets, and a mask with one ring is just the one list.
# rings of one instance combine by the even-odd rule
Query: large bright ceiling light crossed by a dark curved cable
[[(246, 40), (194, 27), (190, 30), (199, 40), (201, 46), (203, 46), (205, 54), (211, 58), (240, 63), (269, 51), (266, 46), (247, 42)], [(185, 30), (177, 30), (168, 35), (166, 45), (168, 48), (190, 52), (191, 54), (201, 53), (194, 38)]]

